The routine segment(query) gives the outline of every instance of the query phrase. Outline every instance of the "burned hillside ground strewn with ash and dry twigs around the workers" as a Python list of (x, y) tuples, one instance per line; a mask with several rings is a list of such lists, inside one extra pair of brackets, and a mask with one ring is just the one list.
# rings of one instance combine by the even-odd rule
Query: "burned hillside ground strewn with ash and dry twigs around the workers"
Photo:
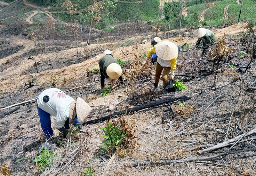
[[(175, 72), (175, 80), (184, 80), (184, 85), (187, 87), (181, 92), (164, 93), (163, 83), (160, 80), (158, 91), (152, 94), (149, 91), (154, 81), (152, 66), (143, 68), (138, 64), (137, 73), (132, 74), (132, 71), (136, 70), (133, 65), (135, 62), (143, 63), (144, 54), (150, 47), (149, 42), (139, 43), (145, 38), (151, 39), (148, 33), (129, 39), (137, 40), (136, 45), (120, 47), (124, 42), (120, 40), (89, 45), (88, 56), (91, 54), (91, 57), (87, 59), (84, 59), (85, 47), (78, 48), (78, 56), (74, 47), (42, 55), (33, 54), (33, 59), (28, 59), (28, 55), (20, 58), (25, 53), (17, 55), (19, 59), (17, 65), (5, 67), (1, 72), (1, 108), (35, 99), (40, 92), (52, 86), (67, 91), (100, 81), (100, 74), (92, 73), (91, 70), (98, 67), (98, 60), (103, 56), (100, 51), (108, 49), (109, 46), (112, 47), (115, 58), (120, 57), (121, 60), (128, 62), (123, 68), (124, 78), (127, 80), (124, 85), (118, 84), (106, 97), (100, 96), (99, 82), (66, 92), (74, 98), (82, 97), (92, 106), (93, 110), (88, 120), (169, 96), (187, 95), (192, 98), (181, 102), (184, 108), (181, 108), (180, 102), (172, 102), (175, 115), (168, 113), (164, 123), (162, 117), (170, 110), (171, 104), (168, 103), (125, 116), (129, 122), (136, 123), (135, 129), (137, 136), (140, 137), (139, 145), (136, 150), (128, 148), (123, 153), (123, 157), (114, 158), (110, 165), (107, 165), (110, 157), (100, 151), (103, 141), (103, 132), (100, 128), (106, 125), (102, 122), (86, 125), (87, 132), (79, 133), (77, 141), (62, 142), (56, 151), (53, 166), (44, 171), (40, 171), (34, 162), (35, 156), (38, 155), (38, 145), (44, 141), (36, 103), (22, 104), (20, 109), (0, 118), (1, 165), (7, 163), (13, 175), (80, 176), (88, 168), (94, 169), (95, 175), (101, 175), (103, 172), (106, 175), (255, 175), (255, 139), (236, 144), (232, 148), (230, 145), (203, 155), (197, 154), (203, 145), (218, 144), (255, 129), (255, 93), (249, 89), (255, 79), (255, 64), (253, 63), (244, 73), (244, 67), (250, 62), (251, 57), (250, 54), (239, 57), (239, 51), (244, 51), (244, 46), (240, 43), (244, 25), (238, 25), (214, 30), (217, 38), (222, 37), (223, 31), (228, 33), (225, 41), (230, 50), (230, 53), (220, 61), (216, 71), (213, 70), (210, 53), (208, 52), (207, 57), (202, 59), (200, 50), (196, 50), (193, 46), (196, 39), (191, 35), (192, 30), (188, 31), (187, 34), (190, 34), (188, 37), (166, 39), (179, 45), (187, 42), (183, 51), (179, 53)], [(212, 51), (214, 47), (216, 43)], [(84, 60), (74, 62), (79, 58)], [(41, 62), (38, 64), (39, 73), (36, 73), (34, 63), (39, 60)], [(243, 72), (239, 72), (235, 66), (231, 69), (231, 63), (242, 65)], [(135, 79), (132, 79), (132, 76)], [(211, 89), (213, 86), (228, 83), (236, 77), (240, 80), (216, 90)], [(2, 110), (0, 116), (14, 108)], [(52, 117), (53, 124), (54, 117)], [(54, 134), (58, 135), (55, 129)], [(254, 135), (250, 138), (255, 137)], [(232, 154), (235, 151), (248, 149), (251, 150)], [(229, 154), (206, 161), (157, 164), (159, 161), (209, 157), (223, 152)], [(27, 159), (17, 162), (20, 158)], [(138, 167), (139, 161), (146, 161), (148, 164)], [(136, 164), (131, 166), (134, 162)]]

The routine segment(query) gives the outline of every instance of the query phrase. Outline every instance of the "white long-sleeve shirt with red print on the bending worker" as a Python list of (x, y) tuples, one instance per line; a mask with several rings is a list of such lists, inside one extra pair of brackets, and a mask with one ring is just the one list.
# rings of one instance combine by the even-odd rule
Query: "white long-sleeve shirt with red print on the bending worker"
[[(43, 97), (49, 96), (49, 101), (44, 102)], [(62, 128), (65, 121), (69, 117), (69, 107), (71, 102), (75, 101), (72, 97), (66, 95), (63, 91), (57, 88), (49, 88), (44, 90), (37, 99), (37, 105), (39, 108), (48, 112), (49, 114), (56, 116), (54, 123), (56, 128)]]

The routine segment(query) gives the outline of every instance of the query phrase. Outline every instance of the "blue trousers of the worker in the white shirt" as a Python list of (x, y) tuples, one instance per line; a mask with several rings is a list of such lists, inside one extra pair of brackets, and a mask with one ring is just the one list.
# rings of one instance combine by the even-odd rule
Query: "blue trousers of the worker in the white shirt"
[[(51, 115), (48, 112), (45, 112), (43, 109), (38, 107), (37, 100), (36, 100), (36, 107), (37, 107), (37, 111), (40, 118), (40, 124), (44, 131), (44, 136), (46, 137), (46, 139), (49, 139), (53, 135), (53, 131), (51, 127)], [(74, 122), (74, 125), (76, 124), (80, 124), (77, 118), (75, 118), (75, 122)]]

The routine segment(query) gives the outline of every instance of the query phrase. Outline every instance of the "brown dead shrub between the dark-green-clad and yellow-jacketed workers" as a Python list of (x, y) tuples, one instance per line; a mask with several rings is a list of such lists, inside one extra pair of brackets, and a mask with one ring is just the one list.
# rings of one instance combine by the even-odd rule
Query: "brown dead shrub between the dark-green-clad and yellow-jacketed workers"
[(143, 60), (139, 58), (125, 67), (124, 79), (127, 81), (127, 94), (131, 99), (139, 95), (138, 88), (141, 88), (139, 81), (152, 77), (154, 75), (153, 71), (154, 66), (152, 64), (146, 64), (144, 66)]

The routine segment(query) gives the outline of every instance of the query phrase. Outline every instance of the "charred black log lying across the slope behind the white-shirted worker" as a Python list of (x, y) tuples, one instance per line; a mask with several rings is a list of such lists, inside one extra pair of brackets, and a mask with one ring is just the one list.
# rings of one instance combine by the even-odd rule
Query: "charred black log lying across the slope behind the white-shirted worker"
[(149, 102), (149, 103), (145, 103), (145, 104), (136, 106), (132, 109), (125, 109), (123, 111), (118, 111), (118, 112), (115, 112), (115, 113), (107, 115), (107, 116), (103, 116), (103, 117), (100, 117), (100, 118), (97, 118), (97, 119), (94, 119), (94, 120), (90, 120), (90, 121), (84, 122), (83, 125), (103, 122), (105, 120), (109, 120), (110, 118), (113, 118), (114, 116), (127, 115), (130, 112), (136, 112), (136, 111), (139, 111), (139, 110), (142, 110), (142, 109), (151, 108), (151, 107), (158, 106), (160, 104), (167, 103), (167, 102), (173, 102), (173, 101), (177, 101), (177, 100), (183, 102), (183, 101), (186, 101), (186, 100), (189, 100), (189, 99), (191, 99), (191, 97), (181, 96), (181, 97), (175, 98), (175, 97), (171, 96), (171, 97), (163, 98), (163, 99), (160, 99), (160, 100), (155, 100), (155, 101), (152, 101), (152, 102)]

